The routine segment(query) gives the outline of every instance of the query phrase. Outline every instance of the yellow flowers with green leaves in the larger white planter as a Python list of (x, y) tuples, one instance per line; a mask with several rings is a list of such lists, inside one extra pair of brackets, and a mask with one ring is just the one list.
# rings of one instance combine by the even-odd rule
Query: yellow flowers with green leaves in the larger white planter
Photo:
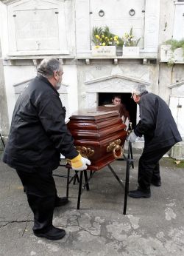
[(96, 48), (99, 46), (117, 46), (122, 42), (118, 36), (110, 33), (109, 27), (93, 27), (92, 41)]

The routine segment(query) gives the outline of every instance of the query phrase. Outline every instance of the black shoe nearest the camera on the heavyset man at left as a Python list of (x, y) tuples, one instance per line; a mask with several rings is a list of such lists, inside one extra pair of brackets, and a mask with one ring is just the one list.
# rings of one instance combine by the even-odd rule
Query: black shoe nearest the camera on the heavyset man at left
[(52, 226), (52, 229), (49, 229), (48, 232), (34, 232), (34, 235), (38, 238), (47, 238), (49, 240), (59, 240), (66, 235), (64, 229), (58, 229)]

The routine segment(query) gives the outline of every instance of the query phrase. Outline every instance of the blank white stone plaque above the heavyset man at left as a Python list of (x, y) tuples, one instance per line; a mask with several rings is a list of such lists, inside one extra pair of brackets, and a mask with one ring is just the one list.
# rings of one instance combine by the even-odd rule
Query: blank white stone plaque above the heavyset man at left
[(57, 9), (21, 10), (14, 13), (18, 51), (59, 50)]

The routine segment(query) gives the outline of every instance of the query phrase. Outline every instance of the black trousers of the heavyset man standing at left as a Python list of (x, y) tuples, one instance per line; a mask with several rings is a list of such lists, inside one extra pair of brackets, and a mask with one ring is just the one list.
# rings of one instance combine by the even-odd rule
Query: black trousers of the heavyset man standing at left
[(54, 204), (57, 198), (52, 172), (23, 172), (16, 169), (26, 191), (27, 201), (34, 214), (34, 232), (47, 232), (52, 228)]

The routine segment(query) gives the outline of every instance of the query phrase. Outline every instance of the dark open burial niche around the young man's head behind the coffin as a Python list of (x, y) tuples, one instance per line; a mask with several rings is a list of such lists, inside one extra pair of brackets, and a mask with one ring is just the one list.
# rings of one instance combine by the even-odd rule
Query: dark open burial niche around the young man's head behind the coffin
[(136, 125), (136, 113), (137, 104), (131, 98), (132, 94), (130, 92), (99, 92), (98, 93), (98, 105), (110, 105), (114, 95), (119, 95), (121, 97), (121, 103), (124, 104), (126, 110), (129, 112), (130, 121), (132, 122), (132, 128)]

